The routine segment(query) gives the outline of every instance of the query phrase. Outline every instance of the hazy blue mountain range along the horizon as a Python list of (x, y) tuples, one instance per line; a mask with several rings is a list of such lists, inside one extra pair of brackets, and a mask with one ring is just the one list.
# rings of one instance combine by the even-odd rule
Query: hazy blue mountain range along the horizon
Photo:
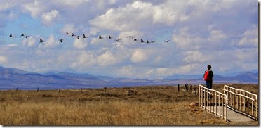
[[(100, 87), (131, 87), (145, 85), (204, 84), (202, 75), (173, 75), (163, 79), (128, 79), (95, 76), (88, 73), (48, 72), (40, 74), (16, 68), (0, 66), (0, 89), (70, 89)], [(239, 75), (224, 77), (215, 75), (214, 83), (257, 84), (258, 72), (243, 72)]]

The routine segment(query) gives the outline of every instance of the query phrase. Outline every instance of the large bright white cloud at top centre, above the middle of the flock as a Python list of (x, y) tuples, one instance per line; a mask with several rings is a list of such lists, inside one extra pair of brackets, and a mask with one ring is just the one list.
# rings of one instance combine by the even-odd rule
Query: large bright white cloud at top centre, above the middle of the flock
[[(111, 8), (105, 14), (90, 20), (90, 24), (109, 30), (136, 30), (139, 27), (147, 26), (149, 19), (152, 19), (152, 4), (135, 1), (121, 8)], [(142, 22), (147, 21), (147, 22)]]

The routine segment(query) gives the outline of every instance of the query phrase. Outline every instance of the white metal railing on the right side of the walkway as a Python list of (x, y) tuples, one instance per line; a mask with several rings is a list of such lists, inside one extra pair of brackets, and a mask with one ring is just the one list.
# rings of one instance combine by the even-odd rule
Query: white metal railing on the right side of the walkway
[(258, 120), (257, 95), (242, 89), (235, 89), (224, 85), (224, 94), (227, 95), (228, 107)]

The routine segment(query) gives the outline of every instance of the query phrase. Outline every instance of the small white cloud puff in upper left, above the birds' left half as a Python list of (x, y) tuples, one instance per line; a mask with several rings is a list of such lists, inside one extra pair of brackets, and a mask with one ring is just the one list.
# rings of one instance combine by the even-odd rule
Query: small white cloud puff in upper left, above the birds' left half
[(43, 15), (41, 15), (41, 19), (45, 25), (51, 25), (53, 23), (53, 20), (57, 19), (58, 16), (59, 11), (54, 9), (48, 13), (44, 13)]

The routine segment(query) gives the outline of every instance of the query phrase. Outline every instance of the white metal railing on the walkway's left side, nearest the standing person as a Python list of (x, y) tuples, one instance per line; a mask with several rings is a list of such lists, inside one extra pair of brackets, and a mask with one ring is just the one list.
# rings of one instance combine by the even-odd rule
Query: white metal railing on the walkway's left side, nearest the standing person
[(199, 85), (199, 106), (227, 121), (227, 95)]

